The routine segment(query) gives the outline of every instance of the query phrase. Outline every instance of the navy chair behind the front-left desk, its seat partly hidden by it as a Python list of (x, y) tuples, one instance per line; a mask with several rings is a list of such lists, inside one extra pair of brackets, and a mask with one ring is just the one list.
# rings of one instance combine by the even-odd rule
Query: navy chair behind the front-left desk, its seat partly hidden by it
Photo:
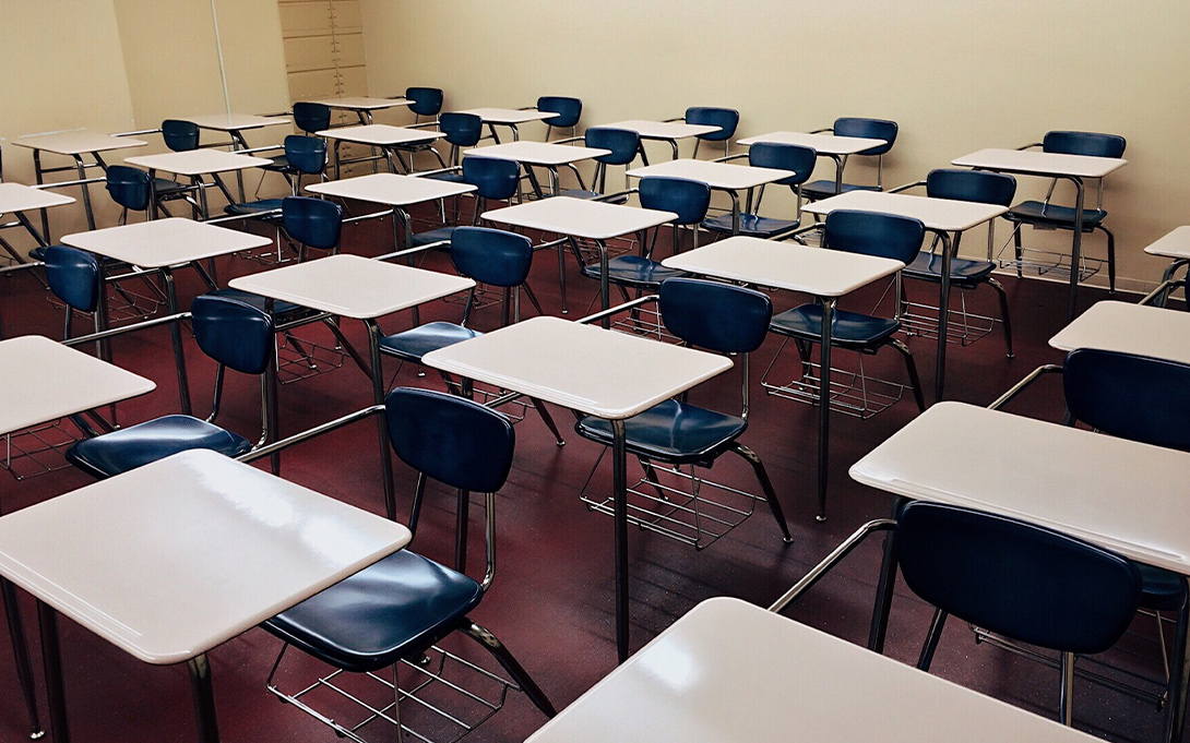
[[(67, 449), (65, 456), (70, 464), (96, 478), (108, 478), (190, 449), (212, 449), (227, 456), (238, 456), (275, 436), (273, 320), (243, 302), (211, 295), (195, 297), (190, 314), (199, 348), (219, 364), (211, 415), (206, 420), (167, 415), (84, 439)], [(262, 433), (255, 445), (239, 434), (214, 424), (223, 398), (225, 369), (261, 377)], [(274, 473), (278, 467), (280, 462), (274, 460)]]

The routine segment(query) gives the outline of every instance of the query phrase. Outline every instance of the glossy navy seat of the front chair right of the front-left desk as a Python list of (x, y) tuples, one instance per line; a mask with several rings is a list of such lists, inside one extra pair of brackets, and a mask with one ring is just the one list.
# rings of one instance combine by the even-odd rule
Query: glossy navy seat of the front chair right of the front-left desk
[(481, 598), (471, 578), (401, 550), (262, 626), (337, 668), (367, 673), (426, 650), (466, 622)]

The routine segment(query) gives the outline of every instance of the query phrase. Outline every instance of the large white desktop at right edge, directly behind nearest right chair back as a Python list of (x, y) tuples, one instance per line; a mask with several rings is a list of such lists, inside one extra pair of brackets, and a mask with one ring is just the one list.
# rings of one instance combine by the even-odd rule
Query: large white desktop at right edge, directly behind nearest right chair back
[(1190, 574), (1190, 454), (940, 402), (851, 467), (898, 496), (1029, 521)]

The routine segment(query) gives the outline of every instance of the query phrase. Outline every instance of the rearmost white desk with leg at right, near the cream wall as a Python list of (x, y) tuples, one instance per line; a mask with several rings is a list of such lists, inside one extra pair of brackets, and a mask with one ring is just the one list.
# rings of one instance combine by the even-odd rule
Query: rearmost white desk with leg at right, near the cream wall
[[(1025, 176), (1060, 178), (1075, 184), (1075, 225), (1083, 223), (1083, 206), (1085, 189), (1084, 178), (1103, 178), (1128, 164), (1128, 160), (1115, 157), (1088, 157), (1083, 155), (1063, 155), (1059, 152), (1041, 152), (1038, 150), (979, 150), (951, 160), (959, 168), (990, 170), (992, 172), (1012, 172)], [(1078, 298), (1078, 260), (1083, 250), (1083, 231), (1075, 229), (1070, 241), (1070, 300), (1066, 314), (1075, 319), (1076, 300)]]

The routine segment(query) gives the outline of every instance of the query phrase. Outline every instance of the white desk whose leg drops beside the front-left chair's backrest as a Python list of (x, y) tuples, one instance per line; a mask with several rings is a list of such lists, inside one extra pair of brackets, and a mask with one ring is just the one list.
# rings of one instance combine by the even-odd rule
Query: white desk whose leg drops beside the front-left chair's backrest
[[(364, 176), (371, 177), (371, 176)], [(394, 176), (401, 177), (401, 176)], [(293, 302), (321, 313), (361, 320), (368, 327), (369, 364), (358, 354), (352, 358), (372, 383), (372, 402), (384, 404), (384, 374), (381, 371), (380, 340), (383, 333), (378, 317), (415, 308), (475, 287), (470, 278), (439, 273), (362, 256), (327, 256), (251, 276), (240, 276), (227, 284), (281, 302)], [(346, 339), (340, 339), (347, 347)], [(384, 480), (384, 508), (396, 518), (393, 491), (393, 460), (383, 416), (377, 416), (381, 466)]]

